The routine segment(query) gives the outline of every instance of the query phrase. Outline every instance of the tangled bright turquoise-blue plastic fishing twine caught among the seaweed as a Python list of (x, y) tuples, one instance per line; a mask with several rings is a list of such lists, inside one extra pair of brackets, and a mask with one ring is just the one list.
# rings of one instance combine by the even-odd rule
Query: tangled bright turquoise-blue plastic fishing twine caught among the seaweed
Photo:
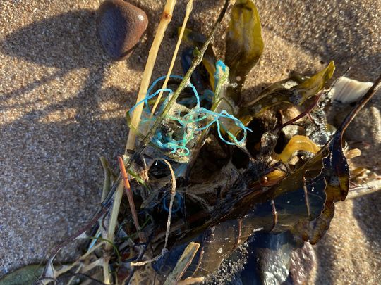
[[(217, 63), (218, 64), (218, 63)], [(221, 63), (220, 63), (221, 64)], [(174, 93), (171, 89), (157, 89), (157, 91), (152, 93), (152, 90), (158, 82), (164, 80), (166, 77), (162, 76), (157, 78), (155, 82), (152, 83), (147, 91), (145, 99), (139, 101), (129, 110), (128, 113), (132, 113), (133, 110), (140, 104), (144, 103), (143, 114), (141, 118), (142, 129), (148, 129), (157, 120), (157, 115), (162, 113), (164, 106), (166, 106), (171, 95)], [(171, 78), (183, 80), (183, 77), (179, 75), (171, 75)], [(229, 114), (226, 110), (221, 110), (218, 113), (213, 110), (208, 110), (202, 107), (200, 101), (202, 99), (209, 99), (210, 90), (207, 90), (200, 98), (195, 86), (188, 82), (187, 87), (191, 87), (194, 97), (188, 100), (179, 101), (175, 103), (171, 112), (164, 118), (165, 128), (158, 128), (155, 132), (154, 137), (152, 137), (151, 143), (157, 146), (157, 148), (169, 150), (170, 153), (176, 153), (178, 156), (189, 156), (191, 154), (190, 142), (195, 139), (195, 137), (200, 134), (205, 129), (208, 129), (212, 125), (217, 126), (217, 134), (219, 138), (226, 144), (238, 145), (240, 146), (246, 140), (247, 132), (251, 132), (251, 129), (243, 125), (243, 122), (238, 120), (234, 115)], [(166, 92), (167, 98), (164, 99), (161, 108), (157, 110), (156, 116), (151, 115), (150, 110), (150, 99), (155, 98), (159, 93)], [(208, 94), (209, 93), (209, 94)], [(193, 108), (188, 108), (195, 104)], [(230, 122), (229, 122), (230, 120)], [(238, 128), (243, 131), (241, 139), (238, 139), (236, 135), (229, 132), (229, 128), (226, 127), (228, 124), (234, 123)], [(231, 141), (224, 137), (227, 134)]]

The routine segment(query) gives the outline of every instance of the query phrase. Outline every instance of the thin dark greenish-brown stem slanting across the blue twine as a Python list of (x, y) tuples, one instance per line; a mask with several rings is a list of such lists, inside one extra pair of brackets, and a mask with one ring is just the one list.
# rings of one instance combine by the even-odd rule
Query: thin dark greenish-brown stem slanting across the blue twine
[[(225, 13), (227, 11), (227, 8), (229, 8), (229, 0), (225, 0), (224, 8), (222, 8), (222, 11), (219, 13), (219, 17), (217, 18), (216, 23), (214, 23), (212, 32), (210, 32), (210, 35), (207, 38), (206, 42), (202, 45), (202, 48), (201, 48), (200, 51), (198, 51), (198, 54), (195, 55), (195, 58), (193, 59), (193, 63), (191, 65), (191, 68), (189, 68), (188, 72), (186, 72), (186, 75), (184, 76), (183, 80), (179, 84), (179, 87), (176, 89), (174, 94), (171, 96), (171, 100), (165, 106), (162, 114), (159, 115), (159, 117), (155, 121), (155, 123), (152, 126), (152, 128), (150, 129), (150, 131), (147, 133), (147, 135), (142, 140), (141, 144), (138, 146), (136, 151), (133, 153), (133, 155), (130, 157), (130, 159), (126, 163), (126, 169), (129, 169), (131, 167), (131, 164), (133, 163), (133, 161), (138, 156), (140, 156), (140, 153), (142, 153), (144, 148), (147, 147), (147, 145), (149, 144), (150, 140), (153, 137), (153, 134), (155, 134), (155, 131), (156, 131), (157, 127), (159, 127), (159, 125), (162, 123), (162, 121), (164, 120), (165, 115), (167, 115), (167, 113), (169, 112), (171, 106), (175, 103), (176, 99), (179, 97), (181, 91), (183, 91), (183, 89), (186, 87), (186, 84), (191, 79), (191, 75), (192, 75), (193, 71), (195, 70), (195, 68), (202, 61), (202, 57), (204, 56), (204, 53), (207, 50), (207, 47), (209, 46), (210, 42), (212, 41), (212, 38), (214, 37), (214, 34), (217, 31), (219, 23), (221, 23), (222, 19), (224, 18), (224, 15), (225, 15)], [(117, 181), (111, 187), (111, 190), (109, 191), (109, 194), (107, 195), (107, 197), (102, 202), (102, 206), (106, 205), (108, 203), (108, 201), (111, 200), (111, 197), (114, 196), (114, 192), (118, 188), (118, 185), (119, 185), (120, 182), (121, 182), (121, 177), (119, 175)]]

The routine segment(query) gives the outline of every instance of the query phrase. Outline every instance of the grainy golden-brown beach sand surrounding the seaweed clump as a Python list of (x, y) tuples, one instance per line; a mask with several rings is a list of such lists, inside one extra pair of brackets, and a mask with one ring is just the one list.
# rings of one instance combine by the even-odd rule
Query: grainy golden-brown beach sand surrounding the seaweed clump
[[(116, 63), (97, 41), (100, 2), (0, 1), (0, 276), (39, 262), (90, 220), (103, 179), (98, 157), (114, 161), (123, 152), (123, 113), (135, 101), (164, 1), (131, 1), (150, 25), (133, 56)], [(174, 27), (185, 11), (185, 1), (179, 2), (153, 78), (167, 71)], [(349, 67), (358, 80), (380, 74), (381, 1), (257, 2), (265, 53), (250, 74), (246, 96), (258, 92), (258, 84), (281, 80), (291, 70), (313, 72), (331, 59), (337, 75)], [(195, 1), (189, 26), (207, 32), (221, 5)], [(218, 49), (223, 39), (221, 29)], [(362, 132), (358, 141), (373, 144), (365, 149), (365, 163), (380, 172), (380, 157), (372, 155), (381, 143), (380, 99), (372, 106), (352, 134)], [(379, 284), (380, 201), (380, 194), (372, 194), (337, 206), (329, 233), (315, 247), (316, 284)]]

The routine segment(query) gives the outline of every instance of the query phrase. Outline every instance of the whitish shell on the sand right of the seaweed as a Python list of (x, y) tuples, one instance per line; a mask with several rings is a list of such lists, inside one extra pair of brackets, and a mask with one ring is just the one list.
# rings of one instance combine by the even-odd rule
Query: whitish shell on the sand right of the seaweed
[(372, 82), (360, 82), (351, 78), (341, 76), (337, 79), (331, 90), (332, 100), (341, 103), (357, 101), (372, 87)]

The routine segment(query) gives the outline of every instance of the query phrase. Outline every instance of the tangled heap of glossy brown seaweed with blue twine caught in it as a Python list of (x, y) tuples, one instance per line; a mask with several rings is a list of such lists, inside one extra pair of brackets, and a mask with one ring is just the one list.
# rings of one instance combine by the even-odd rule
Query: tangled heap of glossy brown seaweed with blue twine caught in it
[[(210, 42), (229, 6), (222, 61)], [(225, 1), (208, 37), (185, 24), (179, 32), (185, 75), (169, 71), (150, 87), (144, 77), (143, 96), (126, 113), (133, 139), (119, 157), (121, 175), (102, 158), (102, 206), (52, 250), (39, 284), (201, 281), (253, 236), (284, 239), (284, 252), (317, 243), (334, 203), (346, 199), (343, 134), (381, 77), (332, 131), (323, 103), (329, 101), (332, 61), (315, 75), (291, 76), (243, 103), (243, 84), (264, 46), (253, 1)], [(88, 240), (85, 253), (57, 264), (61, 248), (77, 239)], [(275, 277), (260, 280), (269, 278)]]

